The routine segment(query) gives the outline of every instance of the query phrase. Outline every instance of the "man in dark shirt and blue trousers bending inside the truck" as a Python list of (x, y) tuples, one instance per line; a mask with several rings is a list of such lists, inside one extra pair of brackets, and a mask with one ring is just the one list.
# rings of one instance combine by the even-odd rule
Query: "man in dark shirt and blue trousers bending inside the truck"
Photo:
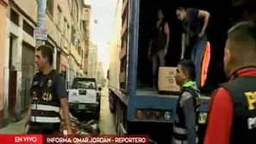
[[(189, 43), (191, 48), (190, 59), (195, 64), (197, 87), (200, 87), (201, 63), (207, 42), (206, 28), (209, 22), (209, 12), (202, 9), (180, 7), (176, 10), (176, 15), (178, 20), (183, 21), (183, 27), (188, 36), (188, 39), (183, 40)], [(185, 47), (183, 46), (182, 57), (185, 55), (184, 52)]]

